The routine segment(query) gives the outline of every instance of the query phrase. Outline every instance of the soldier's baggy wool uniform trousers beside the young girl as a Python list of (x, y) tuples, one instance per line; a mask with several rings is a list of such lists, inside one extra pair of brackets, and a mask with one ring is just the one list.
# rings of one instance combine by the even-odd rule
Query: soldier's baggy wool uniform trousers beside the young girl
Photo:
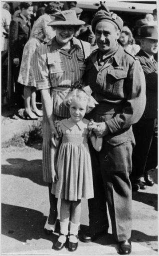
[[(106, 136), (105, 136), (106, 137)], [(131, 154), (132, 129), (109, 140), (104, 139), (100, 152), (90, 146), (94, 198), (88, 199), (89, 227), (92, 232), (107, 230), (106, 202), (116, 241), (131, 236)]]

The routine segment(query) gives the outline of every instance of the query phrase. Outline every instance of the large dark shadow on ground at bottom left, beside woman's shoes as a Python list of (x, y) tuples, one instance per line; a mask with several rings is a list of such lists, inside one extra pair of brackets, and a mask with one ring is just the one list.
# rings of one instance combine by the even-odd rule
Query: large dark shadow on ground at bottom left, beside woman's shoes
[[(26, 242), (27, 239), (43, 238), (52, 241), (54, 244), (57, 235), (47, 235), (43, 230), (46, 218), (38, 210), (2, 203), (1, 234), (21, 242)], [(59, 221), (56, 224), (55, 232), (59, 232)]]

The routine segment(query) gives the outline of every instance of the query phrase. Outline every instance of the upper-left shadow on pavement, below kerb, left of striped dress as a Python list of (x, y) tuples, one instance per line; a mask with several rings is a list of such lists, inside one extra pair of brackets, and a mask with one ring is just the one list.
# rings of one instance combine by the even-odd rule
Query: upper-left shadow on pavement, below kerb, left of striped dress
[(10, 174), (18, 177), (28, 178), (38, 185), (47, 186), (42, 178), (42, 160), (26, 160), (23, 158), (8, 158), (9, 164), (1, 165), (2, 174)]

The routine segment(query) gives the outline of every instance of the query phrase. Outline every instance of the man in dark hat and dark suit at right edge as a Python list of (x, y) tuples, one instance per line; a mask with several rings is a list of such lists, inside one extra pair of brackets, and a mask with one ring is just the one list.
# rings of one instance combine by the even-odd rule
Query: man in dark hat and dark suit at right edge
[[(136, 57), (142, 66), (146, 81), (146, 106), (140, 120), (133, 125), (136, 141), (132, 153), (132, 172), (130, 175), (132, 190), (152, 186), (151, 171), (157, 165), (157, 139), (154, 133), (157, 118), (157, 27), (145, 25), (140, 30), (140, 50)], [(154, 137), (153, 137), (154, 136)], [(152, 143), (153, 138), (153, 143)], [(150, 155), (149, 155), (150, 154)], [(153, 161), (150, 158), (153, 157)], [(144, 176), (145, 184), (140, 181)]]

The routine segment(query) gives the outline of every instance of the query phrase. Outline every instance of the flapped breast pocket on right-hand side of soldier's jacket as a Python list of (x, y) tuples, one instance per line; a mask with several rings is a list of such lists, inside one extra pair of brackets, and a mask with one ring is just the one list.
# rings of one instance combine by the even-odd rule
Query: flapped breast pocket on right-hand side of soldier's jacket
[(108, 69), (106, 75), (106, 91), (115, 97), (123, 97), (123, 83), (127, 77), (127, 69)]

